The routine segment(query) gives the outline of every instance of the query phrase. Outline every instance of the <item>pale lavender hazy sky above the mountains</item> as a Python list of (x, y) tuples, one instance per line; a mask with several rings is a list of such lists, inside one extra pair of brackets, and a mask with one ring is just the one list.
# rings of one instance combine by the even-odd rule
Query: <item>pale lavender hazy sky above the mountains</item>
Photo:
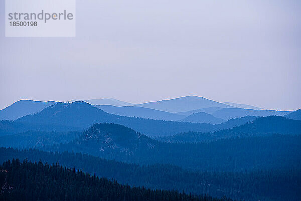
[(5, 37), (0, 109), (21, 99), (187, 95), (301, 108), (300, 1), (77, 1), (76, 37)]

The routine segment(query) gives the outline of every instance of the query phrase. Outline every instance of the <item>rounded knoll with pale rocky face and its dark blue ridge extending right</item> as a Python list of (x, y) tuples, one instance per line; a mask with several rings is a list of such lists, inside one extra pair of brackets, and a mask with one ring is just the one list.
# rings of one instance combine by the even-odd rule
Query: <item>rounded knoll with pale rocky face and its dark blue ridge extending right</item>
[[(296, 129), (291, 129), (292, 133)], [(280, 131), (274, 129), (263, 136), (261, 133), (241, 134), (239, 138), (182, 144), (159, 142), (121, 125), (94, 124), (77, 139), (45, 146), (43, 150), (74, 151), (129, 163), (173, 164), (204, 171), (301, 166), (301, 136), (272, 134)]]

